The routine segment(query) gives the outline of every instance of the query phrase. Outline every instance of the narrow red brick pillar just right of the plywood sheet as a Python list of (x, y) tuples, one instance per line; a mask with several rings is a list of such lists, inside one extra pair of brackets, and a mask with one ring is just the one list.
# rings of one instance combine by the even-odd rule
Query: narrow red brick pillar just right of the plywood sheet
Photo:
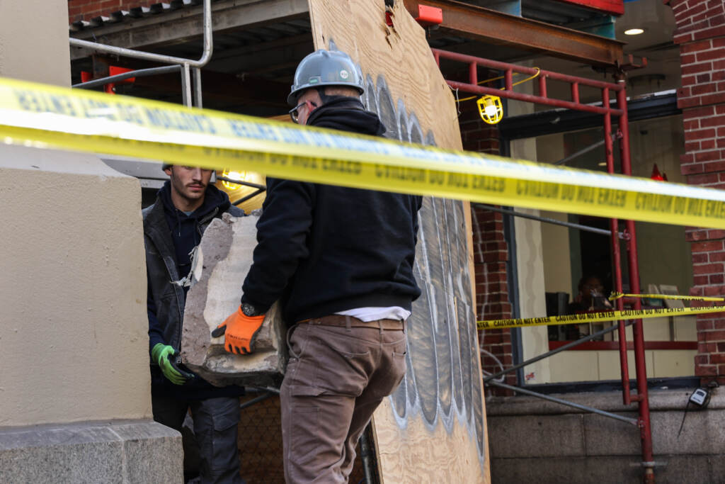
[[(460, 110), (463, 149), (498, 155), (498, 128), (481, 120), (473, 100), (461, 102)], [(476, 270), (476, 319), (508, 319), (511, 317), (511, 303), (508, 298), (508, 244), (504, 239), (503, 216), (473, 205), (471, 218)], [(494, 354), (504, 366), (513, 364), (510, 329), (481, 331), (479, 342), (482, 349)], [(486, 372), (500, 370), (490, 356), (481, 355), (481, 366)], [(515, 378), (515, 374), (509, 374), (506, 382), (515, 385)], [(494, 390), (494, 393), (504, 395), (507, 392)]]

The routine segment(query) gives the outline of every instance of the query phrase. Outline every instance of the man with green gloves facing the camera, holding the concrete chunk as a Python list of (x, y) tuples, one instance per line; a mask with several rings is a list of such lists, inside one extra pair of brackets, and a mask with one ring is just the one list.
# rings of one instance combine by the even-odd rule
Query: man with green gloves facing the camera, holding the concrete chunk
[(244, 389), (212, 386), (181, 365), (178, 352), (191, 253), (212, 219), (244, 211), (209, 184), (211, 170), (164, 165), (164, 171), (170, 180), (143, 211), (154, 420), (181, 431), (191, 408), (202, 483), (241, 483), (236, 439)]

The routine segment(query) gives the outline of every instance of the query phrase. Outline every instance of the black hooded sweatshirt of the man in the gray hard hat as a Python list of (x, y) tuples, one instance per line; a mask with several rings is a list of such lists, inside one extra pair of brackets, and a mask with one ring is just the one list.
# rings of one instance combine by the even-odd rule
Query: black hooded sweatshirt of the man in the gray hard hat
[[(380, 136), (385, 127), (357, 99), (312, 111), (308, 126)], [(260, 311), (280, 299), (291, 324), (368, 306), (410, 311), (421, 197), (267, 179), (254, 263), (242, 302)]]

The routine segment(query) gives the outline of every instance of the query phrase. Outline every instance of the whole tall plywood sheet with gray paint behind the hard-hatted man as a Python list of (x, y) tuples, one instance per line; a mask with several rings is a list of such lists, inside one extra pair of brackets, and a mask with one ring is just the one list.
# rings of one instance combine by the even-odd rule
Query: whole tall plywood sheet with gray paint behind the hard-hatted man
[[(402, 2), (310, 0), (317, 49), (339, 49), (366, 80), (368, 110), (386, 136), (461, 149), (457, 112), (426, 42)], [(473, 313), (471, 221), (463, 202), (426, 197), (415, 276), (421, 298), (408, 329), (407, 374), (373, 419), (384, 483), (488, 483), (479, 343)]]

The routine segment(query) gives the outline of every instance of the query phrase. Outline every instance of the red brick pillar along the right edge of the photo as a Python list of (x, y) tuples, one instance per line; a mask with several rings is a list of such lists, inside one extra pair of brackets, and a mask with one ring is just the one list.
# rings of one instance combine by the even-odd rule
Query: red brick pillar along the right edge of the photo
[[(672, 0), (680, 46), (684, 120), (682, 174), (693, 185), (725, 188), (725, 8), (723, 0)], [(688, 228), (692, 295), (725, 295), (725, 231)], [(725, 313), (697, 318), (695, 375), (725, 383)]]

